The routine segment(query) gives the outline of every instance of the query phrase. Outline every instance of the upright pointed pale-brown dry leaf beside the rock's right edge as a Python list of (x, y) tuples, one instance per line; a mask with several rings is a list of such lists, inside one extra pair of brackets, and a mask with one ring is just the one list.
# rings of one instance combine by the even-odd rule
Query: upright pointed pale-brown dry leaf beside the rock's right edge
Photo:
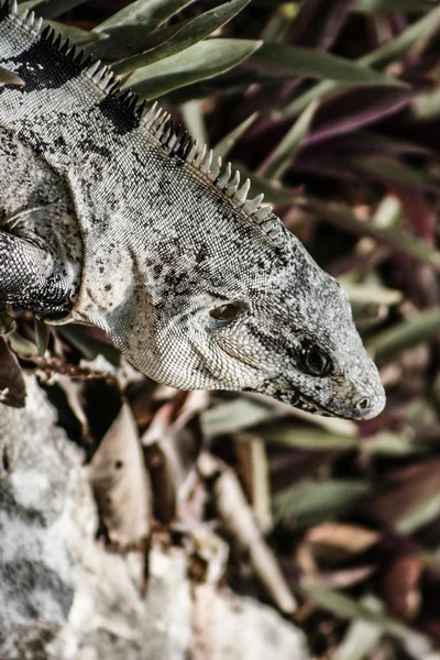
[(96, 451), (89, 479), (111, 543), (142, 546), (151, 530), (151, 486), (130, 407), (123, 404)]

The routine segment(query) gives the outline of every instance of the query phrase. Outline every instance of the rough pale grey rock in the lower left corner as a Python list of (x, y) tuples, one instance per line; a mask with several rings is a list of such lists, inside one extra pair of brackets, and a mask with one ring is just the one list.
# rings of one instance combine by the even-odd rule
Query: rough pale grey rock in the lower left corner
[[(95, 541), (80, 451), (33, 377), (26, 387), (26, 408), (2, 406), (0, 416), (0, 660), (188, 658), (195, 612), (185, 558), (154, 549), (140, 597), (138, 556)], [(206, 660), (306, 660), (301, 634), (249, 598), (215, 594), (208, 618)]]

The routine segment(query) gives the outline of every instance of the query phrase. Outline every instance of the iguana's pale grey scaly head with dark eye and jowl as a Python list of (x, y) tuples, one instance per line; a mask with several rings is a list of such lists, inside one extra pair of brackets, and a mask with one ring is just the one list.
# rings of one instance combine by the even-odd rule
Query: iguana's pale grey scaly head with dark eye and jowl
[(384, 389), (346, 293), (266, 211), (272, 219), (276, 245), (229, 217), (224, 253), (200, 223), (180, 258), (162, 256), (167, 286), (157, 304), (153, 296), (155, 359), (143, 371), (188, 389), (246, 389), (321, 415), (375, 417)]

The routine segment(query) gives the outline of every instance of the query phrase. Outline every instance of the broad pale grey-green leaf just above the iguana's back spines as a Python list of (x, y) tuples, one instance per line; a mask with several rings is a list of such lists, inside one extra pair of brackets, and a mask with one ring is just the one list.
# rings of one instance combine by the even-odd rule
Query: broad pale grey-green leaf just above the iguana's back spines
[(237, 66), (254, 53), (261, 42), (239, 38), (212, 38), (190, 46), (155, 64), (134, 72), (123, 87), (154, 99), (172, 89), (212, 78)]

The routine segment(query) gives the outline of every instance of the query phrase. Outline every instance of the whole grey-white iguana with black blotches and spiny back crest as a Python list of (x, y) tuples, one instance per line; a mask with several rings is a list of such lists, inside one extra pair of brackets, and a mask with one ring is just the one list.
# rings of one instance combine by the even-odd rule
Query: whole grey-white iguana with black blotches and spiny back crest
[(231, 165), (0, 0), (0, 300), (94, 324), (175, 387), (384, 407), (349, 299)]

